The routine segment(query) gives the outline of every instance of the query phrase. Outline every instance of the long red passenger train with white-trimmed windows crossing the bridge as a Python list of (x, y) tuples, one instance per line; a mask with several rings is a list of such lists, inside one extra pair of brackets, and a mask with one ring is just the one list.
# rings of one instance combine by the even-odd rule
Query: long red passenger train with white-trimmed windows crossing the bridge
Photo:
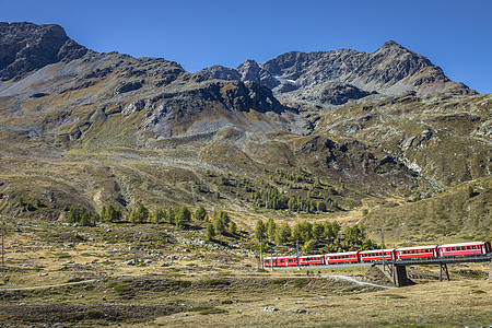
[(472, 242), (448, 245), (415, 246), (406, 248), (347, 251), (324, 255), (267, 257), (265, 267), (297, 267), (338, 263), (379, 262), (385, 260), (413, 260), (419, 258), (444, 258), (478, 256), (492, 253), (490, 242)]

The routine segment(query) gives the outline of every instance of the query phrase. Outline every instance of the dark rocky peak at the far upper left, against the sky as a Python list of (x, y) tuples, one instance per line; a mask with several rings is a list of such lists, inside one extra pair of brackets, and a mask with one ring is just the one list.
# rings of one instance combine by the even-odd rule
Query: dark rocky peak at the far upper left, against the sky
[(56, 24), (0, 22), (0, 80), (21, 77), (46, 65), (82, 57), (87, 49)]

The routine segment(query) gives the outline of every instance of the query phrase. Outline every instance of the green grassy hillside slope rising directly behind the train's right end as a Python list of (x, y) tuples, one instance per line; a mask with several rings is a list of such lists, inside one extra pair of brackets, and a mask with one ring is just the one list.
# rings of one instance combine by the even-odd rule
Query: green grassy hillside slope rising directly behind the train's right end
[(399, 244), (492, 238), (492, 178), (484, 177), (414, 202), (374, 207), (362, 220)]

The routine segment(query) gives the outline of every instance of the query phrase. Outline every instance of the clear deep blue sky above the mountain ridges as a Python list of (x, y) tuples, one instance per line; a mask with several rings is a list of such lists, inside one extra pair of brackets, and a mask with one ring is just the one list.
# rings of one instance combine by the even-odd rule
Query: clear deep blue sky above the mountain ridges
[(490, 0), (0, 0), (0, 21), (59, 24), (93, 50), (163, 57), (192, 72), (291, 50), (372, 52), (394, 39), (492, 93)]

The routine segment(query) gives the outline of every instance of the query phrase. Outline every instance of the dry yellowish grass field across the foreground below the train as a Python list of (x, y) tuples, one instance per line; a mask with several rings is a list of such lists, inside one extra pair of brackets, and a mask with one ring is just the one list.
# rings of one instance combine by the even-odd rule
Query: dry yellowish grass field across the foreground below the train
[[(139, 266), (128, 265), (134, 232)], [(152, 225), (8, 226), (0, 327), (492, 325), (489, 263), (450, 266), (449, 282), (438, 267), (414, 267), (414, 285), (386, 289), (333, 277), (390, 285), (375, 268), (258, 272), (250, 255), (188, 249), (184, 237)]]

